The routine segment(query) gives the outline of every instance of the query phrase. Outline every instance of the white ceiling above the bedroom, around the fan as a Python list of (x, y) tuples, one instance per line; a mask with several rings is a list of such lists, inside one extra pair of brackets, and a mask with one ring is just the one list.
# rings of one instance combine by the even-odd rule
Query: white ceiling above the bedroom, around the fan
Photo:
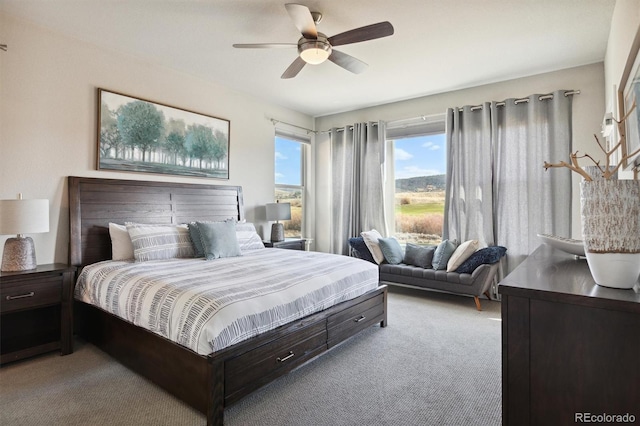
[[(369, 64), (280, 75), (296, 43), (284, 3), (323, 14), (332, 36), (389, 21), (395, 34), (340, 46)], [(524, 77), (604, 59), (615, 0), (0, 0), (0, 10), (73, 38), (214, 81), (311, 116)], [(0, 43), (6, 43), (0, 40)], [(11, 46), (9, 45), (9, 49)]]

